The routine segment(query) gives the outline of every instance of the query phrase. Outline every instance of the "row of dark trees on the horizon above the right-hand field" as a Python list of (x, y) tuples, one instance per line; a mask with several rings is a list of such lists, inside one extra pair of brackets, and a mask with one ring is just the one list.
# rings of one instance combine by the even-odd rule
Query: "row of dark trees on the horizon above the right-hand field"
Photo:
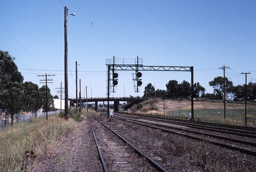
[[(165, 97), (168, 98), (188, 98), (191, 97), (191, 84), (187, 81), (178, 83), (176, 80), (170, 80), (166, 83), (166, 90), (155, 90), (154, 86), (149, 83), (144, 88), (143, 97)], [(224, 78), (217, 76), (214, 80), (209, 82), (214, 90), (213, 93), (205, 93), (205, 88), (200, 85), (199, 82), (194, 83), (194, 95), (193, 97), (203, 97), (210, 99), (224, 99)], [(245, 84), (234, 86), (232, 81), (229, 81), (225, 77), (225, 97), (226, 98), (247, 98), (250, 100), (256, 99), (256, 83), (249, 82), (247, 84), (247, 90), (245, 90)]]

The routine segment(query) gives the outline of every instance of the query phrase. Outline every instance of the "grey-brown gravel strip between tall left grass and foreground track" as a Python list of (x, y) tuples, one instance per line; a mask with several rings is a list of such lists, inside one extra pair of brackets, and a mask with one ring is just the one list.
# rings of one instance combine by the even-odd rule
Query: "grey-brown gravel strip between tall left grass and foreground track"
[(44, 160), (34, 172), (101, 172), (97, 147), (87, 119), (79, 123), (79, 132), (62, 138), (48, 159)]

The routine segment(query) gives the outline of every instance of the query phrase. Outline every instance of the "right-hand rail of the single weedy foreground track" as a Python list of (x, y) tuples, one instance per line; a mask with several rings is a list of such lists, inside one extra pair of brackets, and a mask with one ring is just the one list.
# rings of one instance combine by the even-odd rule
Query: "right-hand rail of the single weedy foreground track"
[[(94, 116), (93, 116), (94, 117)], [(96, 120), (98, 120), (96, 117), (94, 117)], [(99, 121), (99, 120), (98, 120)], [(161, 167), (159, 164), (157, 164), (154, 160), (152, 160), (150, 157), (148, 157), (147, 155), (143, 154), (139, 149), (137, 149), (136, 147), (134, 147), (130, 142), (128, 142), (127, 140), (125, 140), (122, 136), (120, 136), (119, 134), (117, 134), (116, 132), (114, 132), (111, 128), (109, 128), (108, 126), (106, 126), (105, 124), (103, 124), (101, 121), (99, 121), (102, 125), (104, 125), (107, 129), (109, 129), (112, 133), (114, 133), (117, 137), (119, 137), (124, 143), (127, 143), (130, 147), (132, 147), (135, 151), (136, 154), (138, 154), (141, 157), (145, 157), (149, 163), (156, 168), (158, 171), (161, 172), (167, 172), (163, 167)]]

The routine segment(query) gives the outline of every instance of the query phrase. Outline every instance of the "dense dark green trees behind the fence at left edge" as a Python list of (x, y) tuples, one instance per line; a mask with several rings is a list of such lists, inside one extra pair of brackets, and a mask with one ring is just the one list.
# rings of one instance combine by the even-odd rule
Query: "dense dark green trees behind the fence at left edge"
[(13, 115), (22, 111), (45, 111), (46, 106), (50, 111), (55, 110), (50, 89), (47, 87), (46, 105), (46, 86), (39, 88), (33, 82), (23, 82), (14, 59), (7, 51), (0, 50), (0, 114), (10, 114), (13, 123)]

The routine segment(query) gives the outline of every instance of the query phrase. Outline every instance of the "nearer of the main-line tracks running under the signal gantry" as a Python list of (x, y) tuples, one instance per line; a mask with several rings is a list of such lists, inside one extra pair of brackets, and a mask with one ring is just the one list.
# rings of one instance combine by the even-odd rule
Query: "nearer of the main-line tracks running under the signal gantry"
[[(193, 138), (195, 140), (208, 141), (212, 144), (229, 148), (232, 150), (240, 151), (246, 154), (250, 154), (256, 156), (256, 142), (255, 142), (255, 134), (250, 131), (250, 134), (239, 133), (228, 133), (228, 131), (223, 131), (219, 129), (208, 129), (208, 133), (205, 132), (206, 128), (200, 128), (198, 126), (191, 126), (187, 124), (173, 123), (169, 121), (162, 121), (155, 119), (149, 119), (141, 117), (131, 117), (130, 115), (118, 114), (115, 113), (115, 118), (120, 120), (125, 120), (128, 122), (132, 122), (133, 124), (143, 125), (146, 127), (154, 128), (157, 130), (161, 130), (167, 133), (178, 134), (187, 138)], [(173, 125), (175, 124), (175, 125)], [(183, 125), (181, 127), (181, 125)], [(193, 127), (191, 129), (190, 127)], [(237, 126), (236, 126), (237, 127)], [(202, 130), (204, 132), (202, 132)], [(234, 129), (233, 129), (234, 130)], [(221, 133), (221, 134), (220, 134)], [(235, 134), (235, 135), (234, 135)], [(230, 137), (231, 136), (231, 137)], [(232, 137), (233, 136), (233, 137)]]

